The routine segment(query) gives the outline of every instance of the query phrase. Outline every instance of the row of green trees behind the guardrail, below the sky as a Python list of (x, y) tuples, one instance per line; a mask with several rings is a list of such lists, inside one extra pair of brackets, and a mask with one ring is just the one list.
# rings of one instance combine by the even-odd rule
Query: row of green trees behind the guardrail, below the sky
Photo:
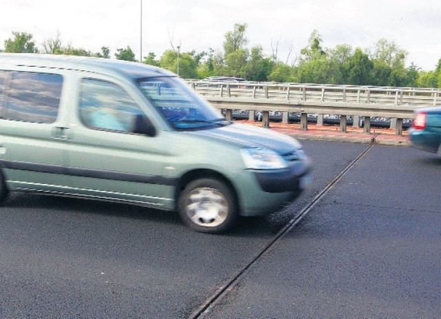
[[(142, 62), (160, 66), (185, 79), (238, 76), (249, 81), (441, 88), (441, 59), (433, 71), (422, 71), (413, 63), (406, 68), (408, 53), (386, 39), (378, 40), (371, 52), (360, 48), (353, 49), (348, 44), (325, 48), (322, 37), (314, 30), (305, 48), (300, 50), (297, 62), (288, 65), (276, 63), (273, 56), (265, 56), (260, 45), (247, 48), (246, 31), (246, 23), (235, 23), (233, 30), (225, 33), (223, 50), (165, 50), (160, 59), (156, 59), (156, 55), (149, 52)], [(101, 52), (92, 53), (84, 48), (63, 45), (59, 32), (56, 37), (46, 39), (41, 45), (41, 50), (32, 40), (32, 34), (12, 32), (12, 36), (4, 41), (4, 52), (40, 51), (48, 54), (99, 56), (110, 59), (109, 47), (103, 46)], [(129, 46), (117, 49), (114, 56), (116, 59), (136, 61)]]

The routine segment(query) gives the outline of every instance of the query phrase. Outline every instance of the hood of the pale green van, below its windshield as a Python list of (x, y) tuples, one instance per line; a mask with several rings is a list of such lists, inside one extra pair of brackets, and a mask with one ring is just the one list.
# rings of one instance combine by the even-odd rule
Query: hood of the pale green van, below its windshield
[(216, 127), (211, 130), (194, 131), (192, 133), (223, 140), (230, 144), (234, 143), (240, 147), (265, 147), (279, 154), (302, 148), (302, 145), (291, 136), (263, 127), (240, 123), (232, 123), (231, 125)]

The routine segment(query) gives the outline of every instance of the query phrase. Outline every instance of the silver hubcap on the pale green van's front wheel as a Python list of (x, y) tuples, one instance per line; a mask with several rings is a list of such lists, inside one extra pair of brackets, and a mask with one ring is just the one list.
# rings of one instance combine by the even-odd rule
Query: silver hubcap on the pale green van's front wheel
[(216, 227), (227, 219), (227, 198), (217, 189), (195, 188), (187, 196), (186, 212), (196, 225)]

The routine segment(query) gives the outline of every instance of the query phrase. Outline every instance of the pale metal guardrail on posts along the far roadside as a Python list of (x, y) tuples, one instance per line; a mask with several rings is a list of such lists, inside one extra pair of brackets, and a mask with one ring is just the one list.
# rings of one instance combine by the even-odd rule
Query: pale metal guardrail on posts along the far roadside
[[(365, 132), (370, 132), (371, 118), (391, 118), (391, 127), (402, 134), (403, 119), (411, 119), (418, 107), (440, 106), (441, 90), (387, 88), (356, 85), (316, 85), (297, 83), (214, 82), (187, 80), (187, 83), (215, 107), (232, 119), (233, 110), (247, 110), (249, 119), (262, 112), (263, 127), (269, 126), (269, 113), (300, 114), (300, 127), (307, 130), (307, 114), (340, 116), (340, 131), (345, 132), (347, 116), (364, 116)], [(320, 120), (321, 119), (321, 120)]]

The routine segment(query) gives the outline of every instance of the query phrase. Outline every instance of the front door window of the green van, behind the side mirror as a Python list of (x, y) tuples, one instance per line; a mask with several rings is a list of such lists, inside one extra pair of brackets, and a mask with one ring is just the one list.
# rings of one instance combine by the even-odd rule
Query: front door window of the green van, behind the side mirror
[(96, 79), (82, 79), (79, 116), (94, 130), (133, 133), (139, 105), (119, 85)]

